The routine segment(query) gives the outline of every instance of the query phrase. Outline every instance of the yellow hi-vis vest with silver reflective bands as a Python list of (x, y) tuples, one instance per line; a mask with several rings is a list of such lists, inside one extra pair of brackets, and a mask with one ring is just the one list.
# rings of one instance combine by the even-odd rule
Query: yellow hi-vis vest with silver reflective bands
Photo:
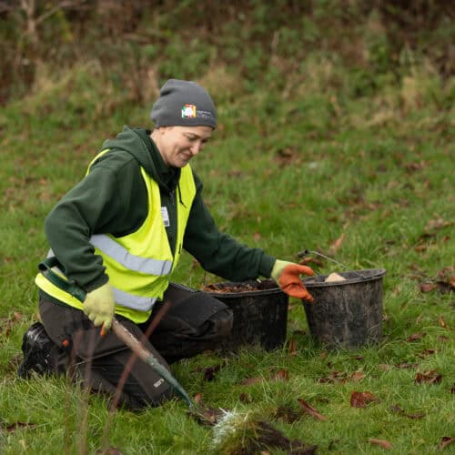
[[(103, 150), (90, 166), (106, 152), (108, 150)], [(142, 226), (136, 232), (121, 238), (115, 238), (111, 234), (96, 234), (90, 238), (95, 254), (103, 258), (116, 299), (116, 314), (136, 323), (146, 321), (157, 299), (163, 298), (170, 274), (180, 257), (187, 218), (196, 195), (193, 172), (187, 165), (181, 168), (177, 186), (177, 242), (173, 256), (161, 212), (158, 184), (142, 167), (141, 173), (148, 195), (148, 214)], [(54, 270), (66, 278), (61, 270)], [(83, 308), (77, 298), (56, 287), (42, 273), (36, 275), (35, 283), (47, 294), (67, 305)]]

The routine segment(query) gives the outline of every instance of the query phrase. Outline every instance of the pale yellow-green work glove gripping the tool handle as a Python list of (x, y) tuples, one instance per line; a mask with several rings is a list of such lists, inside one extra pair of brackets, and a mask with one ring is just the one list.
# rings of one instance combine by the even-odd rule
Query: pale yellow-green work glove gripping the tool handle
[(103, 329), (107, 331), (112, 326), (115, 306), (114, 294), (109, 283), (106, 283), (87, 293), (84, 313), (96, 327), (103, 324)]

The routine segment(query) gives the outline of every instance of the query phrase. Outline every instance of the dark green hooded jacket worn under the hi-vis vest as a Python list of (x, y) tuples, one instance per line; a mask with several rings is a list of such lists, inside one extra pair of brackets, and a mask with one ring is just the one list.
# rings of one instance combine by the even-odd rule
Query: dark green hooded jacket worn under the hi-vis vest
[[(45, 234), (66, 276), (86, 291), (98, 288), (108, 279), (89, 238), (106, 233), (126, 236), (147, 217), (147, 188), (140, 167), (159, 185), (161, 206), (167, 207), (170, 221), (167, 238), (175, 250), (180, 169), (165, 165), (149, 134), (145, 129), (125, 126), (116, 139), (106, 140), (102, 149), (110, 151), (96, 160), (89, 174), (45, 218)], [(270, 277), (275, 258), (219, 232), (202, 198), (202, 183), (193, 174), (197, 194), (183, 247), (218, 277), (231, 281)]]

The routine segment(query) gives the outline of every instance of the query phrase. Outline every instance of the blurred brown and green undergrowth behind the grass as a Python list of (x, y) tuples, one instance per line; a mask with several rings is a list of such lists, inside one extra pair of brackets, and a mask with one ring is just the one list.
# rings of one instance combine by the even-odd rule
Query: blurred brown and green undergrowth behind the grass
[[(452, 6), (446, 0), (4, 0), (0, 106), (51, 90), (90, 120), (147, 104), (167, 78), (177, 77), (203, 82), (217, 103), (264, 90), (285, 99), (321, 91), (359, 98), (399, 87), (405, 109), (428, 98), (443, 108), (453, 102)], [(48, 96), (38, 98), (51, 114)], [(261, 108), (273, 116), (276, 101), (271, 96)]]

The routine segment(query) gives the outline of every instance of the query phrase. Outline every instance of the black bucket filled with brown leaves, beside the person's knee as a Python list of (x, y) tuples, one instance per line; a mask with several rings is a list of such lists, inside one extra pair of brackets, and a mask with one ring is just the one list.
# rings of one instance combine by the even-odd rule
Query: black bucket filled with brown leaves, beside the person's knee
[(223, 349), (236, 351), (257, 345), (271, 350), (286, 341), (288, 295), (273, 280), (224, 282), (210, 285), (206, 292), (231, 308), (234, 323)]

